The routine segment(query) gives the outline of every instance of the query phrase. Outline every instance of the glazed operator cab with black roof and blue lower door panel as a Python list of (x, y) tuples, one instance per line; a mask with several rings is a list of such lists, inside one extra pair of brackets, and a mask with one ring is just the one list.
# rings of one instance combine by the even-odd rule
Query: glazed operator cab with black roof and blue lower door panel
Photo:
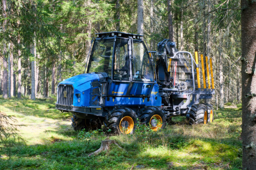
[(97, 33), (87, 73), (107, 74), (107, 96), (150, 96), (155, 77), (152, 62), (142, 35)]

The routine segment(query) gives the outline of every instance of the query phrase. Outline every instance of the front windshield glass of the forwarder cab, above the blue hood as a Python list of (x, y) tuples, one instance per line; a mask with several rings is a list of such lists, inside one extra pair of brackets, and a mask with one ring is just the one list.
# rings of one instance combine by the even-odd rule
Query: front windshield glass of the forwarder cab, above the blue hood
[(87, 73), (105, 72), (112, 75), (112, 56), (114, 39), (96, 40)]

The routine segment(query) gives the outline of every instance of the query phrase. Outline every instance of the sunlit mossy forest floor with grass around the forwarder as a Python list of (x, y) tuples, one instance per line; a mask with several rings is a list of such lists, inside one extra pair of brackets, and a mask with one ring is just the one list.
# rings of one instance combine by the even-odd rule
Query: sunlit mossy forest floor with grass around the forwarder
[[(133, 135), (106, 136), (102, 130), (75, 132), (71, 115), (56, 110), (55, 101), (0, 99), (1, 113), (15, 116), (25, 140), (0, 150), (0, 169), (241, 169), (241, 105), (215, 111), (214, 122), (207, 125), (191, 126), (185, 117), (176, 117), (175, 124), (157, 132), (139, 125)], [(111, 145), (110, 150), (89, 157), (107, 137), (122, 149)]]

